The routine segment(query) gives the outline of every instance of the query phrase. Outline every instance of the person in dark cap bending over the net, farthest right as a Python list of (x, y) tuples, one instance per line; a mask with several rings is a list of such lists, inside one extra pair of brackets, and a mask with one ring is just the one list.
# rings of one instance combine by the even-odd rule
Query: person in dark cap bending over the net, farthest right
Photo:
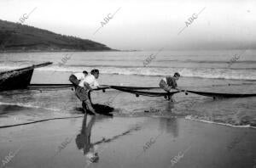
[[(164, 89), (166, 92), (171, 92), (172, 89), (176, 89), (180, 91), (179, 88), (177, 88), (177, 80), (179, 79), (180, 75), (179, 73), (175, 73), (174, 76), (166, 76), (165, 78), (161, 79), (160, 81), (160, 88)], [(174, 98), (172, 96), (168, 96), (168, 100), (174, 102)]]

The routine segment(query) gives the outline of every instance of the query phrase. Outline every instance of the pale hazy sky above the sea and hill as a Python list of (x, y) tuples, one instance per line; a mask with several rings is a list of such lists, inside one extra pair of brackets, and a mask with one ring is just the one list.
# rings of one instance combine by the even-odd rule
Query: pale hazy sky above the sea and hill
[[(256, 44), (256, 0), (0, 0), (0, 19), (17, 22), (33, 8), (25, 25), (110, 48), (224, 49)], [(189, 17), (200, 11), (186, 27)], [(113, 18), (94, 34), (108, 15)]]

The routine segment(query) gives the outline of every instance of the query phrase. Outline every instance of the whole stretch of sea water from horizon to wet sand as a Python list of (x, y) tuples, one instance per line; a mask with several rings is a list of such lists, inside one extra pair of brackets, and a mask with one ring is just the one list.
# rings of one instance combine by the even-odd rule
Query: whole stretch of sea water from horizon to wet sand
[[(177, 81), (177, 84), (183, 89), (205, 92), (255, 93), (256, 81), (245, 80), (254, 79), (256, 75), (251, 70), (252, 64), (255, 65), (253, 52), (247, 51), (244, 53), (237, 63), (232, 64), (232, 69), (227, 69), (228, 64), (225, 61), (229, 61), (232, 53), (239, 53), (239, 51), (214, 51), (212, 53), (163, 52), (159, 53), (157, 58), (148, 64), (148, 67), (143, 67), (143, 58), (154, 52), (0, 53), (2, 61), (0, 69), (10, 69), (18, 67), (20, 64), (25, 66), (25, 64), (52, 60), (55, 65), (34, 71), (32, 83), (69, 83), (68, 76), (71, 75), (73, 70), (90, 71), (92, 68), (99, 68), (102, 72), (99, 82), (102, 84), (158, 87), (162, 77), (159, 75), (170, 74), (174, 70), (179, 70), (175, 67), (180, 67), (190, 70), (190, 75), (193, 74), (194, 76), (191, 77), (188, 73), (181, 71), (182, 76), (185, 77)], [(58, 66), (65, 54), (73, 55), (65, 64)], [(175, 57), (175, 55), (178, 57)], [(166, 62), (167, 59), (169, 62)], [(170, 61), (173, 64), (168, 67), (172, 67), (173, 70), (164, 68)], [(100, 65), (94, 66), (96, 64)], [(207, 64), (207, 66), (204, 67), (204, 64)], [(191, 69), (202, 67), (204, 70), (201, 74)], [(220, 79), (221, 76), (215, 74), (215, 70), (219, 68), (231, 70), (232, 76), (224, 71), (223, 76), (221, 76), (228, 79)], [(241, 70), (246, 70), (247, 75), (244, 76), (243, 73), (240, 73)], [(215, 79), (212, 79), (212, 77)], [(152, 92), (162, 91), (154, 90)], [(256, 98), (213, 100), (209, 97), (191, 93), (189, 95), (177, 93), (174, 97), (177, 103), (170, 103), (165, 98), (143, 96), (137, 98), (133, 94), (115, 90), (97, 91), (92, 94), (94, 103), (107, 103), (113, 106), (115, 108), (113, 115), (115, 116), (178, 116), (189, 120), (222, 123), (230, 126), (256, 126)], [(48, 114), (47, 117), (49, 117), (49, 114), (51, 117), (80, 115), (81, 112), (77, 110), (79, 107), (81, 107), (81, 103), (71, 89), (1, 92), (0, 123), (3, 126), (14, 122), (22, 123), (27, 120), (39, 120), (45, 118), (44, 113)]]

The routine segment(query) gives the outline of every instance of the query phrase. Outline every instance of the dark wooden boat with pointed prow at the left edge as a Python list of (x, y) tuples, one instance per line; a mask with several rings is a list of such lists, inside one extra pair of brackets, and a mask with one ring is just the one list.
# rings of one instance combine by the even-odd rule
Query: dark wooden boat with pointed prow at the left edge
[(46, 62), (43, 64), (35, 64), (26, 68), (0, 72), (0, 92), (26, 88), (32, 79), (33, 70), (49, 64), (52, 63)]

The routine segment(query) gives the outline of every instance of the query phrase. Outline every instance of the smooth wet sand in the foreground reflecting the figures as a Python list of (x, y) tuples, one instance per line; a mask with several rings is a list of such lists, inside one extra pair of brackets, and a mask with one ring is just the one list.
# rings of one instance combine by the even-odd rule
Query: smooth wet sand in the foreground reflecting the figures
[[(49, 120), (20, 129), (20, 126), (0, 129), (2, 167), (253, 168), (256, 165), (253, 128), (218, 126), (183, 118), (100, 115)], [(99, 159), (90, 163), (92, 153), (98, 153)]]

